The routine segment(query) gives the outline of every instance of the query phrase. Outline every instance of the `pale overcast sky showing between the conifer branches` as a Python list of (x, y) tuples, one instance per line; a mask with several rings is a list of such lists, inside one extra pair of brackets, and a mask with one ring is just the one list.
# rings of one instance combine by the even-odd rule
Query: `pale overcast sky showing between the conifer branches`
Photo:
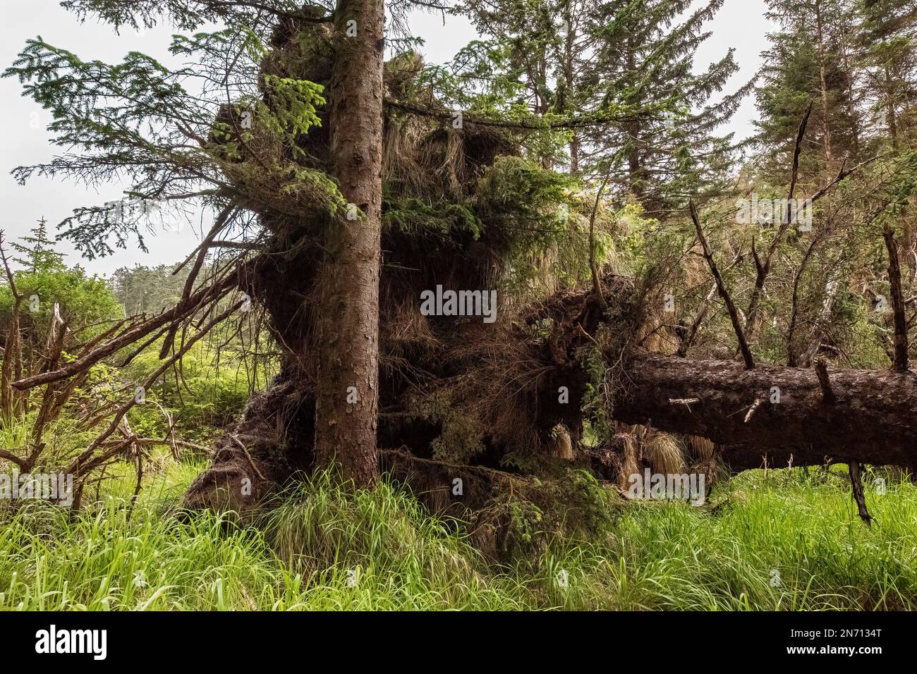
[[(171, 31), (158, 27), (138, 35), (126, 30), (120, 36), (106, 25), (87, 21), (81, 25), (71, 13), (64, 11), (57, 0), (0, 0), (0, 70), (16, 58), (28, 38), (40, 35), (57, 47), (71, 50), (83, 59), (120, 61), (131, 50), (148, 53), (166, 64), (173, 63), (168, 53)], [(735, 48), (735, 58), (741, 70), (729, 83), (731, 88), (750, 79), (757, 71), (760, 52), (767, 47), (767, 32), (771, 29), (763, 17), (764, 0), (726, 0), (710, 29), (713, 35), (702, 44), (695, 58), (700, 69), (711, 61), (723, 57), (730, 47)], [(422, 50), (428, 62), (448, 61), (456, 51), (472, 39), (474, 29), (463, 17), (442, 17), (417, 13), (412, 19), (414, 34), (425, 40)], [(51, 181), (33, 178), (25, 186), (17, 184), (9, 171), (23, 164), (50, 160), (55, 150), (50, 134), (45, 130), (50, 115), (31, 99), (22, 97), (22, 86), (16, 79), (0, 80), (0, 101), (3, 102), (4, 132), (0, 133), (0, 229), (7, 238), (28, 234), (35, 222), (44, 217), (51, 231), (72, 209), (81, 205), (104, 204), (119, 199), (122, 187), (107, 184), (96, 189), (86, 189), (63, 179)], [(751, 121), (756, 111), (747, 99), (736, 114), (731, 126), (737, 137), (751, 132)], [(209, 229), (209, 222), (206, 225)], [(171, 263), (182, 260), (200, 239), (200, 223), (193, 227), (160, 227), (145, 236), (149, 253), (130, 246), (116, 249), (113, 256), (96, 260), (79, 260), (78, 254), (66, 241), (59, 244), (68, 253), (68, 261), (81, 261), (88, 271), (107, 274), (127, 265)], [(155, 235), (155, 236), (153, 236)]]

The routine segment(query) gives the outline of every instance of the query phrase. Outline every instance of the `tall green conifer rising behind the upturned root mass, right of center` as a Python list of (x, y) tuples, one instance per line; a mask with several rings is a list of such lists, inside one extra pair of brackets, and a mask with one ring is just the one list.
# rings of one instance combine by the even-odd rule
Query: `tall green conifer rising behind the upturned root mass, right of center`
[(690, 0), (472, 2), (470, 16), (508, 43), (536, 115), (615, 117), (568, 135), (569, 170), (602, 180), (660, 215), (715, 191), (735, 158), (718, 137), (751, 83), (718, 96), (737, 71), (733, 52), (700, 73), (694, 52), (722, 6)]

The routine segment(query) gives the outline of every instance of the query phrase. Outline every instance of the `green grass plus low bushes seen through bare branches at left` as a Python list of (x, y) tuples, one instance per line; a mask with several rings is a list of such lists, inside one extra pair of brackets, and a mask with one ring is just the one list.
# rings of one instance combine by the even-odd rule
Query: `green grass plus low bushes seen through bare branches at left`
[[(152, 312), (171, 301), (170, 284), (180, 292), (182, 275), (168, 267), (119, 270), (108, 285), (88, 279), (49, 257), (40, 227), (36, 238), (44, 249), (31, 258), (48, 260), (18, 280), (79, 281), (92, 292), (66, 304), (69, 315), (140, 302), (142, 283), (160, 293), (148, 298)], [(500, 555), (476, 537), (481, 513), (434, 514), (391, 474), (355, 492), (323, 471), (257, 512), (189, 511), (182, 498), (211, 460), (207, 445), (276, 369), (271, 349), (243, 326), (195, 345), (127, 414), (132, 437), (156, 440), (145, 449), (142, 490), (137, 464), (120, 459), (87, 485), (79, 510), (0, 503), (0, 610), (917, 608), (917, 487), (903, 470), (866, 470), (874, 518), (866, 527), (843, 464), (710, 472), (713, 490), (693, 506), (628, 501), (589, 470), (561, 463), (509, 495), (497, 492), (512, 542)], [(94, 367), (45, 430), (46, 465), (92, 441), (85, 401), (132, 391), (155, 370), (158, 350), (153, 343), (123, 367), (123, 359)], [(33, 406), (9, 419), (0, 446), (26, 444), (38, 415)], [(685, 448), (674, 438), (635, 437), (632, 453), (681, 470)]]

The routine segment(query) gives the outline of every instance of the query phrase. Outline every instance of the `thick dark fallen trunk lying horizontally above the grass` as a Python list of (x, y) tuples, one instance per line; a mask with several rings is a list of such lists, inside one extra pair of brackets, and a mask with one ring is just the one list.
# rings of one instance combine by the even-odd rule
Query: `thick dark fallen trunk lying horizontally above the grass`
[[(829, 456), (910, 466), (917, 459), (917, 377), (912, 372), (833, 370), (835, 401), (827, 403), (812, 369), (745, 370), (732, 360), (647, 354), (629, 359), (625, 371), (628, 383), (613, 416), (627, 424), (755, 447), (757, 456), (795, 450), (808, 463)], [(771, 402), (774, 387), (779, 388), (777, 403)]]

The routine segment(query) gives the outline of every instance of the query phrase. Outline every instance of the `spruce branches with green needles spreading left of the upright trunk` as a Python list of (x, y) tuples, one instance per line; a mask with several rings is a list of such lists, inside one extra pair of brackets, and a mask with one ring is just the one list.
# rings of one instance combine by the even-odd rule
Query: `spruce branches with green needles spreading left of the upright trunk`
[[(181, 0), (136, 3), (133, 11), (107, 0), (69, 5), (116, 25), (149, 25), (160, 12), (178, 20), (180, 28), (199, 25), (198, 14)], [(81, 207), (61, 223), (61, 236), (72, 239), (86, 257), (126, 248), (131, 238), (145, 250), (141, 231), (149, 226), (150, 204), (197, 199), (206, 206), (224, 205), (226, 172), (240, 174), (236, 186), (247, 189), (254, 201), (267, 204), (276, 198), (289, 214), (301, 216), (318, 207), (334, 215), (346, 204), (325, 171), (289, 161), (309, 159), (299, 140), (320, 124), (316, 106), (326, 103), (322, 85), (269, 72), (259, 77), (268, 37), (261, 34), (263, 22), (228, 6), (214, 15), (252, 20), (174, 36), (172, 53), (188, 60), (186, 68), (171, 71), (139, 52), (120, 63), (83, 61), (38, 38), (29, 40), (3, 73), (16, 77), (24, 93), (50, 111), (52, 142), (69, 149), (48, 163), (17, 168), (19, 182), (66, 175), (88, 184), (119, 180), (130, 185), (127, 202)], [(231, 86), (240, 94), (222, 104), (226, 92), (217, 83), (229, 77), (227, 67), (234, 70)], [(189, 81), (201, 91), (189, 94), (184, 89)], [(236, 117), (249, 113), (251, 124), (226, 119), (229, 111)], [(266, 152), (269, 147), (277, 151)], [(282, 148), (289, 151), (281, 153)], [(287, 158), (280, 165), (279, 154)], [(249, 161), (226, 166), (240, 160)]]

